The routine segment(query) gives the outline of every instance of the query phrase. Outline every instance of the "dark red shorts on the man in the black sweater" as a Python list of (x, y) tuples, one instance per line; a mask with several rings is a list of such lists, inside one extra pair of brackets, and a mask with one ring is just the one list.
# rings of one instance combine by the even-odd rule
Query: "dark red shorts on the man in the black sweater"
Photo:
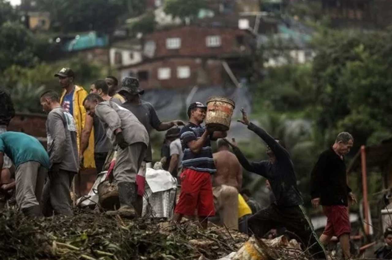
[(323, 206), (324, 214), (327, 216), (327, 226), (324, 235), (340, 237), (351, 232), (348, 207), (346, 206)]

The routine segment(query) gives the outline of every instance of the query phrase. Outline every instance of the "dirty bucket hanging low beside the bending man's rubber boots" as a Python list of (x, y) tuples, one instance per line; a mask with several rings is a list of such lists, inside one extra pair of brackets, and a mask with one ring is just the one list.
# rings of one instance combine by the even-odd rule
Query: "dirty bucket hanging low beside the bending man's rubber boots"
[(104, 209), (120, 208), (120, 200), (118, 199), (118, 187), (109, 179), (98, 185), (98, 203)]

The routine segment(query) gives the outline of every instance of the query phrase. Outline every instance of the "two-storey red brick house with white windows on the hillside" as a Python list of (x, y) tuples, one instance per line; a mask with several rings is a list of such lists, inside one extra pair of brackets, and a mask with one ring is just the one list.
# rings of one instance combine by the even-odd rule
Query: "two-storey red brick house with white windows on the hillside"
[(243, 77), (249, 64), (241, 58), (252, 55), (253, 41), (249, 31), (227, 27), (156, 31), (142, 38), (143, 61), (118, 70), (121, 78), (139, 78), (144, 89), (225, 85), (233, 75)]

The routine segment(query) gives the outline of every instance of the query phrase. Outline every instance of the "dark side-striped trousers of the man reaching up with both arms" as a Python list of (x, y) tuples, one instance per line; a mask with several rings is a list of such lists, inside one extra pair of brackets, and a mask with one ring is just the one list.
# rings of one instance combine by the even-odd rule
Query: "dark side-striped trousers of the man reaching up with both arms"
[[(327, 259), (325, 249), (320, 243), (316, 233), (313, 230), (303, 206), (278, 207), (271, 204), (268, 208), (258, 211), (248, 219), (249, 235), (254, 234), (261, 238), (271, 229), (285, 227), (292, 236), (301, 241), (303, 249), (309, 248), (309, 252), (314, 259)], [(290, 233), (288, 234), (290, 236)]]

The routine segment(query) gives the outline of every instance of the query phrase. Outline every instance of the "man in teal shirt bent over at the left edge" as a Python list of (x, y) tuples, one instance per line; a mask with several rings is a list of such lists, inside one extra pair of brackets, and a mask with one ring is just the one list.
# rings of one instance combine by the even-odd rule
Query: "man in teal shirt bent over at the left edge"
[(4, 154), (15, 164), (16, 203), (29, 217), (41, 217), (40, 206), (42, 189), (49, 156), (44, 146), (34, 137), (20, 132), (0, 134), (0, 169)]

